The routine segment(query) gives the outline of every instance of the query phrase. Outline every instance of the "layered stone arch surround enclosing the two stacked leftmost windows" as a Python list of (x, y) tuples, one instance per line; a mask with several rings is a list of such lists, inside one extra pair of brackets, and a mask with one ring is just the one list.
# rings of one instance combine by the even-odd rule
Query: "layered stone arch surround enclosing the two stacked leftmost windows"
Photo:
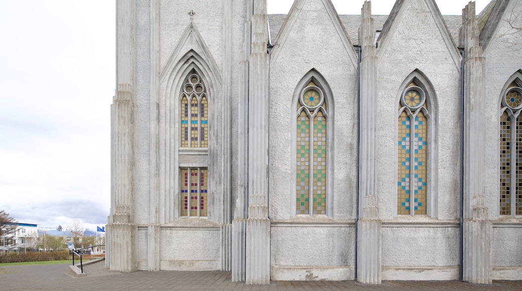
[[(216, 145), (212, 141), (216, 140), (218, 135), (216, 126), (216, 98), (220, 94), (221, 79), (220, 76), (213, 75), (213, 70), (207, 62), (194, 50), (189, 50), (180, 60), (172, 67), (170, 74), (164, 76), (162, 80), (165, 82), (164, 106), (160, 105), (160, 118), (164, 116), (164, 124), (160, 127), (163, 130), (160, 134), (164, 135), (164, 193), (165, 193), (165, 220), (167, 222), (180, 218), (180, 167), (208, 168), (209, 195), (216, 189), (216, 181), (213, 177), (217, 177), (214, 173), (218, 171), (213, 166), (212, 153), (215, 152)], [(186, 79), (191, 74), (197, 74), (201, 83), (205, 84), (206, 101), (208, 102), (208, 147), (207, 148), (188, 148), (180, 151), (180, 102), (181, 92)], [(163, 111), (163, 112), (161, 112)], [(162, 114), (163, 113), (163, 114)], [(195, 163), (185, 163), (180, 160), (180, 155), (190, 154), (199, 156)], [(183, 156), (182, 156), (183, 157)], [(207, 206), (208, 219), (215, 220), (219, 215), (217, 205), (213, 205), (215, 199), (209, 198)]]

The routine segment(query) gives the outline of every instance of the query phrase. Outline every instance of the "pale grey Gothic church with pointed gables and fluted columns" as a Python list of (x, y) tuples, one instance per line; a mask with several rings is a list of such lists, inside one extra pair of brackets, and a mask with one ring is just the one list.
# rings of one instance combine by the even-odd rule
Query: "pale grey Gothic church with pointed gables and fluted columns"
[(522, 278), (522, 0), (116, 0), (115, 271)]

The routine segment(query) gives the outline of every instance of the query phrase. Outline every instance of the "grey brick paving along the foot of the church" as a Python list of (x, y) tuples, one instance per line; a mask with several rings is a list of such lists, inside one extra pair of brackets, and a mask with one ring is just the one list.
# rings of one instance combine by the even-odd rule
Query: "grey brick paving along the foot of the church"
[(269, 285), (232, 282), (230, 272), (136, 271), (121, 273), (98, 262), (84, 266), (86, 277), (68, 275), (67, 264), (0, 266), (0, 290), (522, 290), (522, 281), (473, 285), (459, 281), (272, 281)]

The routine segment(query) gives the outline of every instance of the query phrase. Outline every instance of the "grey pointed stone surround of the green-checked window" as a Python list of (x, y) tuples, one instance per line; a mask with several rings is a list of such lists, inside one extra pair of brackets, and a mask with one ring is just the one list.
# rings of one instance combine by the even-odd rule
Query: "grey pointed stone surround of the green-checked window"
[[(300, 99), (302, 98), (303, 94), (305, 94), (305, 89), (312, 89), (316, 90), (320, 95), (322, 95), (322, 101), (319, 104), (316, 104), (312, 107), (303, 106), (300, 102)], [(334, 136), (334, 124), (335, 124), (335, 105), (334, 105), (334, 96), (332, 94), (331, 88), (328, 84), (328, 82), (324, 79), (324, 77), (315, 69), (311, 69), (309, 72), (307, 72), (303, 78), (299, 81), (297, 86), (295, 86), (293, 98), (292, 98), (292, 114), (295, 114), (292, 117), (291, 121), (291, 135), (292, 138), (290, 139), (292, 141), (292, 155), (291, 155), (291, 165), (292, 165), (292, 171), (294, 174), (293, 177), (293, 183), (292, 183), (292, 192), (290, 193), (290, 197), (292, 203), (291, 203), (291, 216), (297, 215), (296, 207), (298, 206), (298, 202), (296, 199), (298, 186), (296, 177), (298, 162), (296, 161), (296, 155), (298, 154), (297, 146), (298, 141), (296, 140), (296, 135), (298, 134), (298, 116), (304, 112), (306, 116), (309, 118), (316, 118), (318, 115), (321, 115), (322, 117), (326, 118), (326, 159), (325, 159), (325, 168), (326, 168), (326, 181), (325, 181), (325, 211), (324, 213), (316, 213), (316, 214), (324, 214), (326, 216), (334, 216), (334, 157), (335, 157), (335, 136)], [(310, 109), (312, 108), (312, 109)], [(313, 149), (309, 149), (312, 150)], [(309, 161), (310, 162), (310, 161)], [(312, 168), (312, 167), (310, 167)], [(313, 169), (310, 169), (310, 171), (313, 171)], [(310, 173), (310, 172), (309, 172)], [(313, 175), (312, 175), (313, 176)], [(310, 193), (310, 192), (309, 192)], [(312, 194), (310, 194), (312, 196)], [(309, 197), (309, 202), (312, 203), (313, 198), (311, 199)], [(310, 208), (310, 212), (306, 213), (307, 215), (314, 215), (312, 208)]]

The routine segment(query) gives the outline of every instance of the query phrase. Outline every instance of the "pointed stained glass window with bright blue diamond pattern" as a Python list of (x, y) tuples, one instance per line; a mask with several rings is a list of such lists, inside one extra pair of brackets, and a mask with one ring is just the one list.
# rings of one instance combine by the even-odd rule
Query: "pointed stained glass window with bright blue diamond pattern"
[(426, 93), (416, 81), (399, 102), (397, 214), (425, 215), (428, 210), (428, 130)]

